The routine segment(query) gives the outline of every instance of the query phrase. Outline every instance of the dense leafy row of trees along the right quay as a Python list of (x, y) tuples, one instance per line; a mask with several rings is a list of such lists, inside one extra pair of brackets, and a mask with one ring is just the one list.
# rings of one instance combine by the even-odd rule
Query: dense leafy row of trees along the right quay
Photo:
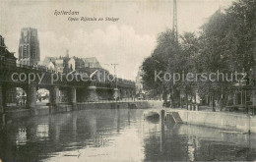
[(156, 73), (163, 72), (159, 75), (163, 78), (164, 72), (208, 75), (220, 72), (228, 74), (224, 78), (229, 80), (235, 72), (250, 74), (256, 56), (255, 11), (255, 1), (234, 2), (229, 8), (218, 10), (208, 23), (200, 27), (199, 33), (185, 32), (179, 35), (178, 42), (172, 30), (161, 32), (157, 47), (142, 65), (144, 88), (155, 94), (163, 94), (165, 100), (169, 96), (174, 106), (180, 103), (181, 94), (189, 101), (196, 93), (202, 98), (211, 96), (213, 101), (218, 100), (221, 105), (226, 104), (224, 96), (231, 92), (237, 82), (156, 81)]

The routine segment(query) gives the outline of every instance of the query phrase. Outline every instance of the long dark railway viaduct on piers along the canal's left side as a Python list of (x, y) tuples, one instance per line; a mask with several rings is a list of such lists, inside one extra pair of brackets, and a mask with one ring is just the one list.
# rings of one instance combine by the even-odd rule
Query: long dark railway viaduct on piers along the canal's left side
[[(39, 67), (16, 64), (13, 53), (7, 49), (0, 51), (0, 112), (7, 107), (7, 91), (20, 87), (26, 92), (26, 108), (36, 108), (36, 93), (40, 88), (49, 91), (48, 106), (57, 108), (61, 103), (60, 96), (65, 95), (65, 104), (76, 109), (78, 102), (96, 102), (130, 98), (135, 94), (135, 82), (122, 79), (107, 80), (98, 70), (94, 77), (83, 80), (83, 77), (62, 74)], [(89, 74), (92, 75), (92, 74)], [(73, 80), (71, 80), (73, 78)], [(56, 80), (58, 79), (58, 80)]]

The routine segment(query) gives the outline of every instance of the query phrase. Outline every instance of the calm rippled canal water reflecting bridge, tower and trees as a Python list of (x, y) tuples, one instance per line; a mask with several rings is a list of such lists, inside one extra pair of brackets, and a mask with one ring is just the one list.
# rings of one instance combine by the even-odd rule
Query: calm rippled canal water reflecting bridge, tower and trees
[(161, 123), (135, 109), (83, 110), (13, 121), (0, 131), (8, 161), (256, 160), (256, 136)]

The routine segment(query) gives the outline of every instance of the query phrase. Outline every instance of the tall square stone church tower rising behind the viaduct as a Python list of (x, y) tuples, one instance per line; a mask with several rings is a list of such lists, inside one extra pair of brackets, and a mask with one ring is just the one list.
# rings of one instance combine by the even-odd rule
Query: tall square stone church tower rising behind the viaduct
[(40, 61), (39, 40), (37, 29), (26, 27), (22, 28), (19, 45), (19, 60), (23, 65), (33, 66)]

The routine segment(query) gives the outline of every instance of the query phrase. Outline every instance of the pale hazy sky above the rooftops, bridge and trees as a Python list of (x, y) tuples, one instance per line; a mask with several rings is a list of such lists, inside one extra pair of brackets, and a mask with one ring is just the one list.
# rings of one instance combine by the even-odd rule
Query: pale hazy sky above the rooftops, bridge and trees
[[(233, 0), (177, 0), (179, 34), (198, 31), (220, 7)], [(18, 57), (22, 27), (38, 30), (40, 59), (45, 56), (96, 57), (118, 77), (135, 80), (143, 60), (157, 45), (157, 37), (172, 28), (172, 0), (0, 0), (0, 34)], [(76, 11), (78, 16), (54, 15)], [(118, 18), (117, 22), (71, 22), (69, 17)]]

